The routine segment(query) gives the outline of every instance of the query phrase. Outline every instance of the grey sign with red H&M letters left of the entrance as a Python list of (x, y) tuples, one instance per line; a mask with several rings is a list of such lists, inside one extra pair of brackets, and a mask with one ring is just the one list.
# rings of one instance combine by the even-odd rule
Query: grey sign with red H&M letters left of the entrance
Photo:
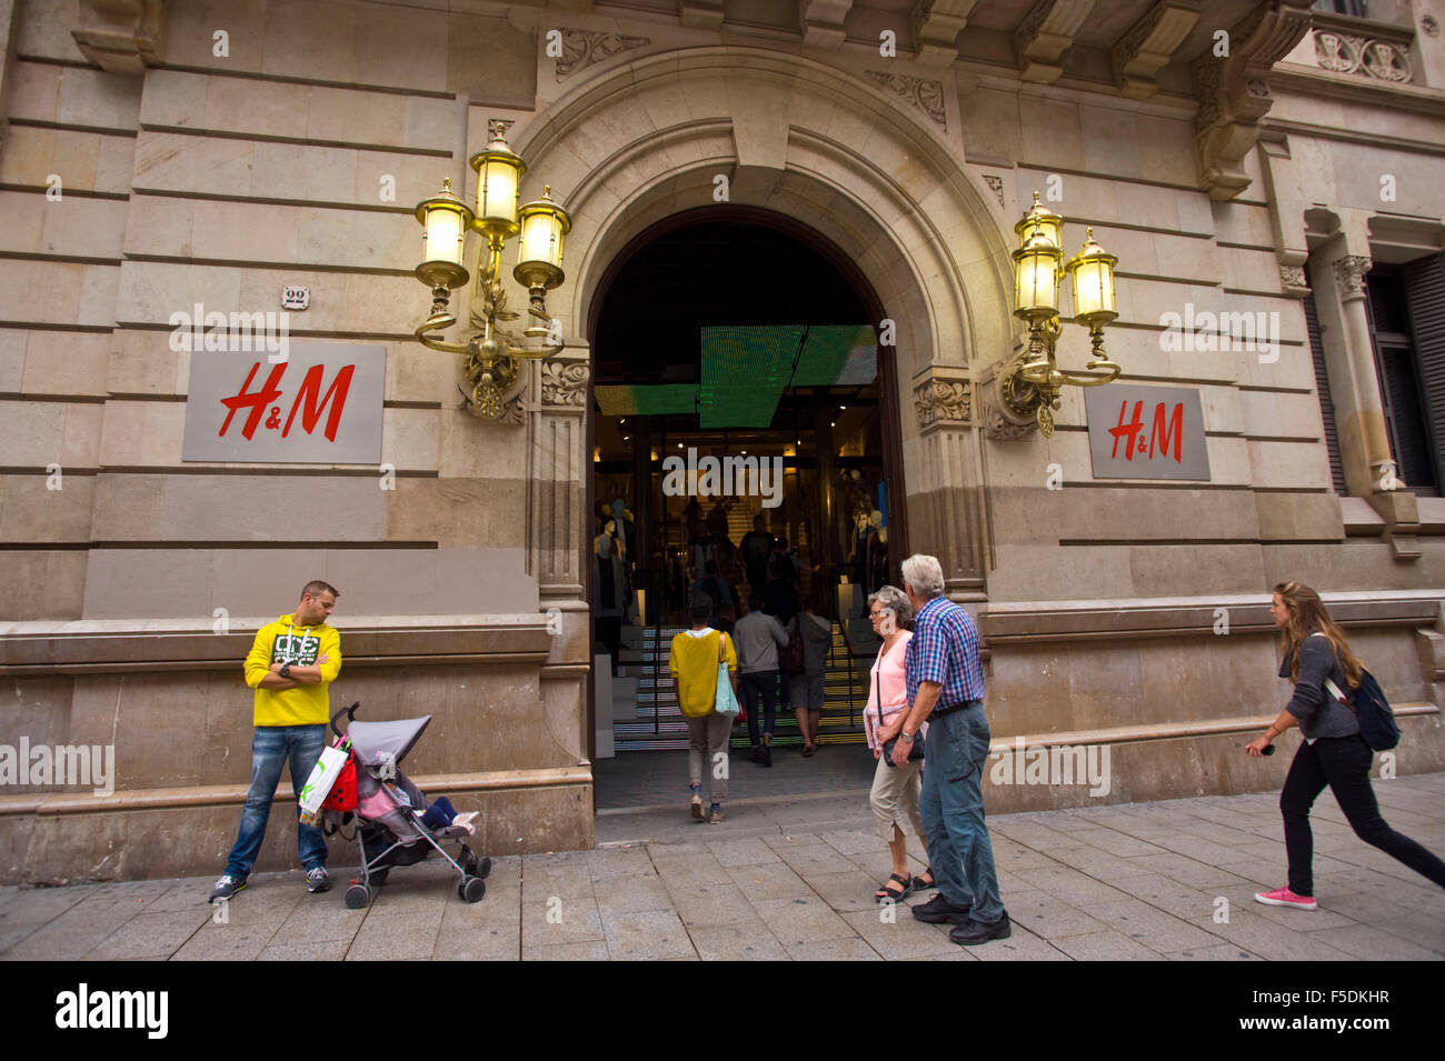
[(182, 460), (376, 465), (386, 346), (192, 351)]

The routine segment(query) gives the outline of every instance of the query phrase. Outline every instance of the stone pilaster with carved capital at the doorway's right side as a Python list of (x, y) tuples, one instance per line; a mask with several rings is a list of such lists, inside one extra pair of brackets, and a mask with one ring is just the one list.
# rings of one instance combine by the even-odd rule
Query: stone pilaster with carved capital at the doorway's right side
[(967, 367), (932, 365), (915, 377), (922, 458), (909, 465), (909, 534), (915, 551), (938, 557), (955, 601), (983, 599), (988, 557), (974, 409)]

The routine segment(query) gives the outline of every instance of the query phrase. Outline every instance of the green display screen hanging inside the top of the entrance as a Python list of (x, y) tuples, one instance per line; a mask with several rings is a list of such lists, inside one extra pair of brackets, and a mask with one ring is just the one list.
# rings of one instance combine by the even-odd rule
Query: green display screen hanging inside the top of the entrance
[(879, 374), (871, 325), (709, 325), (701, 348), (701, 383), (600, 384), (603, 414), (695, 411), (698, 427), (769, 427), (789, 387), (867, 387)]

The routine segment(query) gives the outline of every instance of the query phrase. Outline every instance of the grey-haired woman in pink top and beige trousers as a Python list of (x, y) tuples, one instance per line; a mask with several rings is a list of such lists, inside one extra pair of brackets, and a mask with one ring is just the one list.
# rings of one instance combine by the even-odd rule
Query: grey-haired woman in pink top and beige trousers
[[(926, 876), (915, 878), (912, 875), (903, 840), (902, 814), (907, 813), (909, 821), (913, 823), (913, 834), (919, 844), (923, 844), (923, 821), (918, 813), (923, 764), (909, 762), (905, 767), (893, 767), (881, 755), (883, 745), (897, 736), (907, 717), (903, 650), (907, 647), (909, 638), (913, 637), (906, 629), (913, 625), (912, 618), (913, 609), (909, 606), (907, 596), (896, 586), (883, 586), (877, 593), (868, 596), (868, 619), (873, 622), (874, 632), (883, 638), (883, 647), (879, 648), (879, 658), (873, 664), (868, 680), (868, 706), (863, 710), (863, 732), (868, 738), (873, 758), (879, 761), (868, 803), (879, 818), (889, 853), (893, 855), (893, 875), (874, 894), (879, 902), (886, 899), (897, 902), (918, 889), (936, 888), (932, 868), (923, 870)], [(926, 846), (923, 847), (923, 859), (928, 860)]]

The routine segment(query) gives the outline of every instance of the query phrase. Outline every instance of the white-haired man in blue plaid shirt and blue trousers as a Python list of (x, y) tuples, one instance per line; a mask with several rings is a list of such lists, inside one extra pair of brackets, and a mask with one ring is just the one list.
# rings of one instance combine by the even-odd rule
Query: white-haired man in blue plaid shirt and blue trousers
[(955, 927), (948, 938), (964, 947), (1009, 938), (1009, 912), (998, 899), (998, 875), (984, 824), (983, 772), (988, 759), (984, 670), (972, 616), (944, 596), (944, 569), (932, 556), (903, 562), (903, 588), (913, 605), (913, 638), (903, 667), (907, 719), (893, 762), (907, 762), (923, 722), (928, 748), (919, 813), (928, 833), (938, 895), (913, 907), (913, 917)]

